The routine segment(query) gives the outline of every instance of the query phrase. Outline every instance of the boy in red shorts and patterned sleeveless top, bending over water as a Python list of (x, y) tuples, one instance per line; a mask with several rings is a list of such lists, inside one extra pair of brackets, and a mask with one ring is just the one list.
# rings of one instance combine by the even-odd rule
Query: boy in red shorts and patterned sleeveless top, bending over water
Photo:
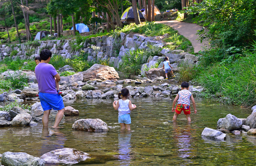
[(177, 107), (175, 109), (175, 113), (174, 116), (172, 118), (172, 120), (177, 120), (178, 115), (181, 113), (181, 111), (184, 112), (184, 114), (186, 115), (186, 118), (188, 120), (188, 122), (191, 122), (190, 119), (190, 98), (191, 101), (193, 103), (194, 106), (194, 110), (195, 110), (195, 114), (197, 112), (196, 110), (196, 103), (194, 100), (194, 97), (192, 95), (191, 92), (188, 91), (188, 82), (182, 82), (181, 83), (181, 91), (177, 94), (177, 96), (175, 97), (173, 103), (172, 103), (172, 112), (174, 112), (174, 106), (178, 100), (178, 104)]

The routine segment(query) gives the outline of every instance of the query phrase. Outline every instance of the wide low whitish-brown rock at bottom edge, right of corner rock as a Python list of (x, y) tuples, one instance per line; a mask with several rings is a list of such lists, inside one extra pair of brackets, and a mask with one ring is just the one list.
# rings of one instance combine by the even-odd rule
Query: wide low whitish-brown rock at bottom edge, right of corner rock
[(76, 149), (62, 148), (45, 153), (40, 158), (49, 163), (76, 164), (90, 158), (88, 155)]

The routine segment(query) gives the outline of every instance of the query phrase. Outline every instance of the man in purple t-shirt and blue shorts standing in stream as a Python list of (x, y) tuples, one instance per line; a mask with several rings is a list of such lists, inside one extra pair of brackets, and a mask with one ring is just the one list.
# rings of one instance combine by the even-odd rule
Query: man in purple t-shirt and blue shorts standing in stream
[(39, 88), (39, 98), (44, 109), (44, 116), (42, 119), (43, 126), (48, 127), (48, 119), (51, 109), (58, 110), (55, 117), (55, 123), (53, 127), (58, 128), (61, 119), (63, 118), (65, 112), (65, 106), (62, 97), (57, 93), (55, 89), (55, 79), (60, 81), (60, 75), (56, 69), (48, 64), (51, 60), (52, 52), (48, 49), (44, 49), (40, 52), (41, 62), (36, 65), (35, 73), (36, 80), (38, 82)]

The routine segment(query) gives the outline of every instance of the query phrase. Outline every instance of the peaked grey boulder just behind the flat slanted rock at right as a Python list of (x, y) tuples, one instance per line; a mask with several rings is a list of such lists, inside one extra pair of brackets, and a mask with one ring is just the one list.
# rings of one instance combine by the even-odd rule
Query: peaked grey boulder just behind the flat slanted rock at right
[(239, 129), (242, 126), (242, 120), (234, 115), (228, 114), (225, 118), (220, 118), (217, 122), (217, 128), (224, 128), (227, 130)]

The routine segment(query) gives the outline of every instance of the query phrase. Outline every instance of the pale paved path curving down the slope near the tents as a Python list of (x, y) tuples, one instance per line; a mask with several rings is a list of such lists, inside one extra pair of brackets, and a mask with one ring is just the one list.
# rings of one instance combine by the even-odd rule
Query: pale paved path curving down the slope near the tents
[(156, 23), (162, 23), (173, 27), (175, 30), (179, 32), (179, 34), (188, 38), (191, 41), (192, 46), (194, 47), (194, 52), (198, 52), (203, 50), (204, 44), (201, 43), (196, 35), (196, 31), (202, 29), (202, 26), (192, 23), (186, 22), (179, 22), (177, 20), (170, 20), (170, 21), (156, 21)]

